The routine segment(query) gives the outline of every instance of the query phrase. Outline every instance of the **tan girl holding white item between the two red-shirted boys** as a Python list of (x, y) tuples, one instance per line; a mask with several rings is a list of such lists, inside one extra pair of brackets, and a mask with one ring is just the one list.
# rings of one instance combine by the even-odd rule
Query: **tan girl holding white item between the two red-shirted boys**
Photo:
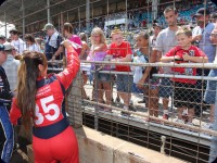
[[(149, 47), (149, 34), (141, 32), (137, 38), (137, 50), (133, 54), (133, 63), (149, 63), (150, 47)], [(152, 68), (154, 71), (155, 67)], [(145, 67), (132, 66), (133, 72), (133, 89), (137, 92), (138, 82), (142, 78)], [(156, 72), (155, 72), (156, 73)], [(141, 88), (141, 87), (140, 87)], [(145, 108), (149, 110), (149, 115), (158, 117), (158, 79), (150, 77), (146, 84), (142, 86), (144, 92)]]

